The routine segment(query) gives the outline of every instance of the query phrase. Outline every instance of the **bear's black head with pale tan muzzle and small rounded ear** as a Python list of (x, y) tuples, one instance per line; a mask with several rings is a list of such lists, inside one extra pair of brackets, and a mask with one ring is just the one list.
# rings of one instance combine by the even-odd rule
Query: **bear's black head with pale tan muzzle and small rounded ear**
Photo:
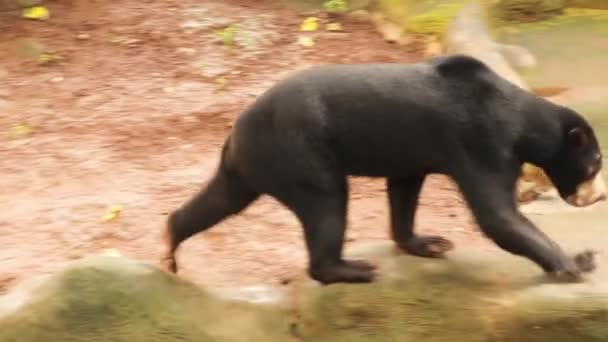
[[(576, 113), (561, 130), (561, 143), (545, 172), (568, 204), (585, 207), (606, 199), (602, 153), (591, 126)], [(571, 115), (569, 115), (572, 118)]]

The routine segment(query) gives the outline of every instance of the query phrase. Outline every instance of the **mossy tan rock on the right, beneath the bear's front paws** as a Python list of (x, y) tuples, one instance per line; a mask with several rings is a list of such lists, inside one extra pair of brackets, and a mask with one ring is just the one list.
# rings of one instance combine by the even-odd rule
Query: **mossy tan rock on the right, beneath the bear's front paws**
[[(594, 237), (606, 233), (596, 223), (585, 234), (589, 241), (567, 229), (550, 235), (564, 247), (599, 248)], [(303, 286), (303, 341), (608, 340), (605, 268), (583, 283), (552, 284), (528, 260), (497, 248), (461, 246), (441, 260), (368, 242), (348, 254), (377, 263), (377, 283)]]

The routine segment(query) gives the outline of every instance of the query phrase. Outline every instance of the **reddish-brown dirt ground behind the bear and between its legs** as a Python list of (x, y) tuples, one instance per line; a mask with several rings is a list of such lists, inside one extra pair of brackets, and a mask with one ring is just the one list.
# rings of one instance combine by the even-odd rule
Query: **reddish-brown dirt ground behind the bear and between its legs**
[[(0, 292), (107, 248), (157, 264), (167, 212), (204, 185), (229, 123), (256, 95), (314, 64), (421, 58), (417, 44), (385, 43), (349, 18), (340, 19), (344, 32), (320, 30), (303, 47), (307, 14), (266, 1), (47, 5), (46, 22), (1, 22)], [(214, 33), (230, 23), (243, 35), (232, 48)], [(39, 65), (25, 54), (36, 44), (62, 60)], [(12, 136), (17, 124), (31, 133)], [(383, 181), (352, 187), (348, 243), (387, 239)], [(114, 204), (124, 205), (119, 218), (103, 221)], [(417, 229), (457, 248), (483, 241), (443, 177), (425, 184)], [(293, 215), (263, 198), (186, 242), (179, 260), (186, 278), (235, 286), (289, 279), (306, 254)]]

